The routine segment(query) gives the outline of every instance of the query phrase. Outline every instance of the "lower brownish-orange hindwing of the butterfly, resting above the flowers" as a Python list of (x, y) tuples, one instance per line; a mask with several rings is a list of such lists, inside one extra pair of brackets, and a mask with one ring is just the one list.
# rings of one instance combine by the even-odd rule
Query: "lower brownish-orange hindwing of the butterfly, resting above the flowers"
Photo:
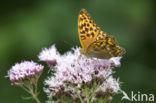
[(125, 50), (117, 45), (114, 37), (107, 36), (104, 40), (96, 40), (88, 47), (86, 55), (97, 58), (111, 58), (121, 56)]

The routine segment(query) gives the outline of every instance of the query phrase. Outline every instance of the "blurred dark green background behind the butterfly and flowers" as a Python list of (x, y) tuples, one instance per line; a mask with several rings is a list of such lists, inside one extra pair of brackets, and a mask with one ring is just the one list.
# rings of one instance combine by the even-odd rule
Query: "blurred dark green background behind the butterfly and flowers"
[[(156, 96), (156, 15), (155, 0), (1, 0), (0, 1), (0, 102), (33, 103), (29, 96), (12, 86), (7, 71), (16, 62), (34, 60), (44, 47), (56, 44), (61, 53), (80, 46), (77, 18), (85, 8), (106, 33), (113, 35), (127, 53), (116, 68), (114, 77), (122, 81), (122, 89)], [(39, 62), (43, 65), (45, 63)], [(40, 78), (40, 99), (47, 99)], [(116, 95), (112, 103), (121, 102)]]

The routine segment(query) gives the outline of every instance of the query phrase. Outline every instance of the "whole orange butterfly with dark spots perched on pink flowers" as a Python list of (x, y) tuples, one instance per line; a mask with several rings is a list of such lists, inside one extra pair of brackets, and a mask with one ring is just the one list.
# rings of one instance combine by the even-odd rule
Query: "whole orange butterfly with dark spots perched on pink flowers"
[(125, 49), (113, 36), (103, 32), (85, 9), (78, 15), (78, 33), (81, 53), (88, 57), (109, 59), (125, 54)]

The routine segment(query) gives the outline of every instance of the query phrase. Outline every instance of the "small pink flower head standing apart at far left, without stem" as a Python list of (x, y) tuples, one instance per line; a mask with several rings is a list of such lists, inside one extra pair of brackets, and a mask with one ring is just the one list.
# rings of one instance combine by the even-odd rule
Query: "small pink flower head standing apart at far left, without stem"
[(12, 66), (8, 71), (8, 76), (13, 84), (20, 85), (26, 80), (38, 77), (42, 73), (43, 68), (42, 65), (38, 65), (33, 61), (24, 61)]

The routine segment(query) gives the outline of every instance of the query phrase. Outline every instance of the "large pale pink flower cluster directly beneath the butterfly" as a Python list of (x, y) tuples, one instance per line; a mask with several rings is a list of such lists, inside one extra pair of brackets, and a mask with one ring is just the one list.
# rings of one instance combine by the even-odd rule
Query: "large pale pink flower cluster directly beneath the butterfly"
[[(120, 66), (121, 57), (110, 59), (89, 58), (81, 55), (80, 48), (60, 55), (53, 45), (39, 54), (41, 61), (47, 62), (55, 73), (45, 80), (45, 92), (48, 96), (70, 95), (72, 99), (87, 99), (85, 89), (91, 94), (116, 94), (120, 90), (119, 82), (112, 77), (112, 68)], [(55, 61), (55, 62), (54, 62)], [(96, 89), (95, 89), (96, 88)], [(87, 101), (87, 100), (86, 100)]]

